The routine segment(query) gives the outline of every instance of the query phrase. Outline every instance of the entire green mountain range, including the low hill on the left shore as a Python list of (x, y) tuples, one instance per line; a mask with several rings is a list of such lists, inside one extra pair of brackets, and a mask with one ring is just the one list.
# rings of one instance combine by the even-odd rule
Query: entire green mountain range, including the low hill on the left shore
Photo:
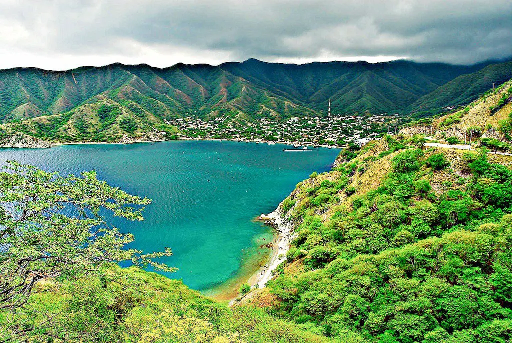
[(245, 125), (263, 117), (325, 114), (329, 99), (333, 113), (421, 116), (471, 101), (510, 75), (512, 62), (454, 66), (406, 60), (14, 68), (0, 71), (0, 123), (14, 122), (2, 127), (8, 134), (60, 142), (164, 139), (178, 133), (166, 120), (187, 116), (226, 116), (225, 123)]

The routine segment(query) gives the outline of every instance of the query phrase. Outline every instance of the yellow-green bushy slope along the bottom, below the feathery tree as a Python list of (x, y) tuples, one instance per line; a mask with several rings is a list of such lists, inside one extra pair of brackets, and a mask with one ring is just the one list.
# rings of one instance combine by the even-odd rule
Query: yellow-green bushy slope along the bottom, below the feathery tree
[[(135, 268), (113, 266), (98, 277), (41, 283), (36, 291), (13, 317), (0, 315), (0, 339), (97, 343), (331, 341), (261, 309), (229, 309), (188, 289), (181, 281)], [(8, 326), (10, 320), (24, 328), (23, 332)]]

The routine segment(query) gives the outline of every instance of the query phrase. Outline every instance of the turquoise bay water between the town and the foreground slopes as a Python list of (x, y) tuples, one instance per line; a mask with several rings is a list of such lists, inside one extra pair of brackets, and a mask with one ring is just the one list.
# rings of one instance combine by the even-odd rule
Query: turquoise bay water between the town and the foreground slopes
[(48, 171), (96, 170), (113, 186), (153, 200), (142, 222), (115, 220), (144, 252), (170, 247), (162, 258), (190, 288), (207, 290), (237, 275), (258, 252), (269, 228), (254, 217), (273, 211), (312, 171), (330, 169), (338, 149), (284, 152), (285, 145), (176, 140), (134, 145), (68, 145), (0, 149)]

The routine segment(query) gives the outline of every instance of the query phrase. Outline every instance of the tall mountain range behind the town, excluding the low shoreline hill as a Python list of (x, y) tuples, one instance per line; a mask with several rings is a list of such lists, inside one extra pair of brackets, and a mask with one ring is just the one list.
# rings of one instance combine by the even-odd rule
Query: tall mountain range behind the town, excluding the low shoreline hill
[[(248, 59), (220, 66), (177, 64), (164, 69), (122, 64), (68, 71), (14, 68), (0, 71), (0, 123), (65, 113), (98, 95), (122, 107), (133, 103), (161, 119), (226, 115), (238, 124), (259, 117), (325, 113), (328, 99), (332, 99), (334, 113), (404, 114), (420, 97), (487, 64), (397, 60), (293, 65)], [(497, 77), (506, 68), (496, 65), (489, 70), (495, 70)], [(467, 87), (462, 98), (448, 97), (462, 102), (478, 92), (478, 87)], [(429, 98), (424, 101), (425, 105), (418, 105), (421, 110), (438, 106)]]

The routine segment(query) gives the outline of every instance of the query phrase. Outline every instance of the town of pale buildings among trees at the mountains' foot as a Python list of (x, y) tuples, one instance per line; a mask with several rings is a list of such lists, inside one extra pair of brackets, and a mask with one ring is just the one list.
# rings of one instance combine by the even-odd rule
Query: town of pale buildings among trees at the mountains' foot
[(287, 120), (258, 118), (255, 122), (238, 122), (230, 116), (210, 119), (177, 118), (167, 124), (175, 125), (183, 138), (214, 138), (261, 142), (289, 142), (311, 145), (342, 146), (354, 141), (364, 145), (384, 133), (385, 115), (331, 115), (291, 117)]

